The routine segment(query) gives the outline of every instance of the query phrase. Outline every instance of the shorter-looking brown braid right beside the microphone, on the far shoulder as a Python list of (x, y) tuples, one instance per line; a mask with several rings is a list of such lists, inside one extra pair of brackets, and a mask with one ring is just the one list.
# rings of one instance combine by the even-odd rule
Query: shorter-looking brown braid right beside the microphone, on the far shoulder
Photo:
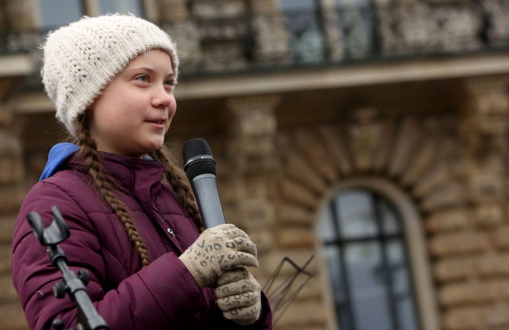
[(165, 146), (150, 153), (150, 156), (164, 165), (164, 177), (177, 194), (179, 202), (191, 215), (196, 227), (202, 232), (204, 230), (202, 217), (196, 205), (191, 185), (183, 170), (174, 164), (168, 149)]

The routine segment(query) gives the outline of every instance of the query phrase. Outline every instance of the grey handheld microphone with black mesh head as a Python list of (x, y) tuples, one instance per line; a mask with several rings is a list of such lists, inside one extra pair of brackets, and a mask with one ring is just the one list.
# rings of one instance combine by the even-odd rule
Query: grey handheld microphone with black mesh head
[(216, 162), (209, 144), (191, 139), (182, 146), (182, 161), (205, 229), (225, 224), (216, 181)]

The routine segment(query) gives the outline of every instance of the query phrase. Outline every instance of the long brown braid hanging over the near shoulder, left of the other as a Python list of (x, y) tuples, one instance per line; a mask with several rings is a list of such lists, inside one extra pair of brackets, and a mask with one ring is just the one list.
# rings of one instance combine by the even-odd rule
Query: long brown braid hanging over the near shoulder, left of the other
[(80, 146), (80, 153), (83, 155), (83, 165), (89, 170), (92, 178), (92, 184), (99, 192), (101, 198), (106, 202), (111, 210), (117, 215), (124, 226), (125, 231), (131, 243), (135, 246), (136, 252), (140, 257), (142, 266), (150, 263), (147, 246), (139, 236), (138, 230), (131, 217), (131, 210), (115, 195), (114, 185), (108, 179), (97, 153), (97, 144), (90, 134), (87, 120), (84, 116), (78, 118), (76, 123), (76, 136)]

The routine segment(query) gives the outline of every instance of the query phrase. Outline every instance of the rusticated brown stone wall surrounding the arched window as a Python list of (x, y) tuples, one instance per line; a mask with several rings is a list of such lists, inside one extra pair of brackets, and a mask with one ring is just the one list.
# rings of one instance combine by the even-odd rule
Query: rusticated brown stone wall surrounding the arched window
[[(407, 191), (423, 218), (441, 327), (509, 326), (506, 81), (466, 80), (463, 114), (387, 116), (362, 107), (348, 122), (278, 132), (277, 249), (314, 251), (326, 191), (342, 179), (382, 176)], [(291, 310), (319, 300), (298, 298)], [(284, 326), (325, 323), (320, 313), (305, 315)]]

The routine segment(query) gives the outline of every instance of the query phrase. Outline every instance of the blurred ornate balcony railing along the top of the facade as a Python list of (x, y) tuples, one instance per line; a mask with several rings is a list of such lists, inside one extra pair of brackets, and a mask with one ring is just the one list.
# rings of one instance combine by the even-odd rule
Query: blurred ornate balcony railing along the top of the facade
[[(177, 41), (183, 75), (509, 51), (509, 0), (430, 0), (159, 25)], [(41, 35), (0, 35), (0, 54), (33, 51)]]

